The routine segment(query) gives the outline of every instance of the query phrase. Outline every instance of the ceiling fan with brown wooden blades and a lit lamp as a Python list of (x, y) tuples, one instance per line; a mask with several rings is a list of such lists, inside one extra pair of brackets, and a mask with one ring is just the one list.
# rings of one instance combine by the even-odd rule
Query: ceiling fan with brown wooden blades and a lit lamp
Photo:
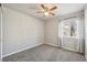
[(54, 11), (55, 9), (57, 9), (56, 6), (54, 6), (54, 7), (51, 8), (51, 7), (45, 7), (44, 4), (41, 4), (41, 8), (42, 8), (42, 10), (39, 11), (37, 13), (43, 13), (44, 17), (46, 17), (46, 15), (55, 15), (55, 14), (53, 13), (53, 11)]

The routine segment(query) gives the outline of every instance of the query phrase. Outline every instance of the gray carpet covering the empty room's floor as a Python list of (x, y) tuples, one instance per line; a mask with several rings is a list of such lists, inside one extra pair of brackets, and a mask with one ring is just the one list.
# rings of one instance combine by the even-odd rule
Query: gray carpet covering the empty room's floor
[(84, 54), (66, 51), (51, 45), (40, 45), (2, 59), (3, 62), (85, 62)]

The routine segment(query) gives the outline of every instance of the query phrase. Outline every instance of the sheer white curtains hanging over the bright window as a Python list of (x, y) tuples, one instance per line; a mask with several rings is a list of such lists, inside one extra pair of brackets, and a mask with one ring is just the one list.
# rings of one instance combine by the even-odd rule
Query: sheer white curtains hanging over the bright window
[(64, 19), (58, 25), (59, 46), (84, 53), (84, 17)]

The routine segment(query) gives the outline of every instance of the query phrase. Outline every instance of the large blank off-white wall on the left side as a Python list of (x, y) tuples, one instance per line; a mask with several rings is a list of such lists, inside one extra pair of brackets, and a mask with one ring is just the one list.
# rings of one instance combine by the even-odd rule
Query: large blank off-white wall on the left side
[(3, 9), (3, 56), (43, 44), (43, 21), (8, 8)]

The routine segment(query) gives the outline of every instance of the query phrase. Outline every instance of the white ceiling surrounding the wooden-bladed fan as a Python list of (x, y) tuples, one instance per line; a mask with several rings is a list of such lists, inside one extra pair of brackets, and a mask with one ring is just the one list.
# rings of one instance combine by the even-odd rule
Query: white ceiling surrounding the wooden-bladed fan
[(70, 14), (74, 12), (81, 11), (85, 8), (85, 3), (50, 3), (45, 6), (48, 6), (48, 7), (57, 6), (57, 9), (54, 11), (55, 13), (54, 17), (51, 17), (51, 15), (44, 17), (41, 13), (36, 13), (40, 9), (40, 3), (7, 3), (4, 4), (4, 7), (18, 10), (20, 12), (24, 12), (32, 17), (39, 18), (41, 20), (47, 20), (47, 19), (52, 19), (58, 15)]

